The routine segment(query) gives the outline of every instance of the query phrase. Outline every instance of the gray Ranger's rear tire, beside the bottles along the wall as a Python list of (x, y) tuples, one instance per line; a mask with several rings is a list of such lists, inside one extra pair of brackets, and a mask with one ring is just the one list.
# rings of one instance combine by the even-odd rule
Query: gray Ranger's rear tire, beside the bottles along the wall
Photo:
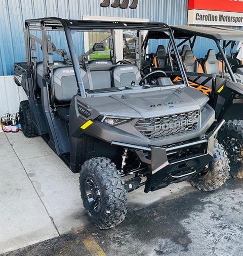
[(38, 135), (34, 129), (28, 101), (21, 101), (19, 104), (19, 122), (25, 137), (31, 138)]

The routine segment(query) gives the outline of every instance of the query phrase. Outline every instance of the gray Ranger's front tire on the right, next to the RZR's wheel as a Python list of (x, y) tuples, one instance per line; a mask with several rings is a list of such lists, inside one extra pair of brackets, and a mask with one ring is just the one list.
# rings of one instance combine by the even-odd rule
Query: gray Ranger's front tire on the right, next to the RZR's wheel
[(214, 158), (208, 168), (190, 180), (191, 184), (199, 190), (210, 191), (222, 186), (229, 176), (229, 160), (221, 144), (216, 140)]

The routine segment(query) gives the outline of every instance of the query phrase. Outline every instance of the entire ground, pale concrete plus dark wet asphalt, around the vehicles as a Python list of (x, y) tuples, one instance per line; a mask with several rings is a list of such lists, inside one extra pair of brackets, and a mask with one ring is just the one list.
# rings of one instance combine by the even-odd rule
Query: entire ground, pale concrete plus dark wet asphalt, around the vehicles
[[(0, 133), (0, 253), (4, 255), (241, 255), (243, 181), (211, 193), (189, 183), (129, 194), (123, 223), (99, 230), (78, 174), (41, 137)], [(10, 252), (12, 251), (12, 252)]]

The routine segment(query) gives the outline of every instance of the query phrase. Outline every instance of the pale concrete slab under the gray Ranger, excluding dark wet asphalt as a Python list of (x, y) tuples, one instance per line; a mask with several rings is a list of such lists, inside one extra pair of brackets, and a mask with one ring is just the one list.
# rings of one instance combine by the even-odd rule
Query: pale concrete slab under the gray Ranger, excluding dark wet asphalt
[[(22, 132), (0, 133), (0, 175), (0, 253), (55, 237), (62, 239), (63, 234), (80, 233), (84, 228), (85, 232), (89, 228), (100, 232), (83, 208), (78, 174), (72, 174), (42, 138), (28, 139)], [(126, 221), (152, 204), (189, 191), (194, 188), (187, 182), (149, 194), (140, 188), (128, 195)]]

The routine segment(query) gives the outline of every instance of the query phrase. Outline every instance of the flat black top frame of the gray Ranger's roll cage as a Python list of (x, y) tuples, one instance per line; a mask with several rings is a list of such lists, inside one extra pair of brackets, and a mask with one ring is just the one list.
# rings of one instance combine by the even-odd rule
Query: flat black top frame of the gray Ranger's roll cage
[(45, 24), (51, 29), (60, 29), (69, 27), (70, 29), (170, 29), (170, 27), (162, 22), (117, 22), (117, 21), (97, 21), (97, 20), (70, 20), (61, 18), (39, 18), (25, 20), (25, 26), (33, 29), (41, 28), (41, 24)]

